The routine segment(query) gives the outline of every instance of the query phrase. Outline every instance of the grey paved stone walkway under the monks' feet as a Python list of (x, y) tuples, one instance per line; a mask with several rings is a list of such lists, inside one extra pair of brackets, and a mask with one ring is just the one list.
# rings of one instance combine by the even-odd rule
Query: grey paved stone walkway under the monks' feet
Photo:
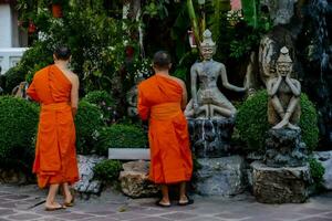
[(45, 192), (35, 186), (0, 185), (0, 221), (4, 220), (93, 220), (93, 221), (332, 221), (332, 192), (312, 197), (302, 204), (262, 204), (251, 196), (231, 199), (195, 196), (188, 207), (158, 208), (155, 199), (128, 199), (120, 193), (105, 191), (101, 197), (79, 199), (71, 209), (46, 212)]

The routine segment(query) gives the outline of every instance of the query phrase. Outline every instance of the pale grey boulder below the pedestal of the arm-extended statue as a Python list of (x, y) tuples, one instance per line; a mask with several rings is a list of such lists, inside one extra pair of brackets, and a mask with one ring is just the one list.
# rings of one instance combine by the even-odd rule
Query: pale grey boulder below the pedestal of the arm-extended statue
[(195, 189), (204, 196), (234, 196), (246, 188), (246, 166), (240, 156), (198, 159), (201, 168), (194, 175)]

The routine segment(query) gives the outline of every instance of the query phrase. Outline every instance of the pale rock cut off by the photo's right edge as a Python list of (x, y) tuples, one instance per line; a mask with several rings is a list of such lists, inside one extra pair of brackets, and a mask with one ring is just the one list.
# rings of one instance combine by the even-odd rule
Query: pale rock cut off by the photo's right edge
[(325, 168), (325, 173), (323, 177), (323, 187), (326, 190), (332, 190), (332, 151), (317, 151), (314, 157), (322, 164)]

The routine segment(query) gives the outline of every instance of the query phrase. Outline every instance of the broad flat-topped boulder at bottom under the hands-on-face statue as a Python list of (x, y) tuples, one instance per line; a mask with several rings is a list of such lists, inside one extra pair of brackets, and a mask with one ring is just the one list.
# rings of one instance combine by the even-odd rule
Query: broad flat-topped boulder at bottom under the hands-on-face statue
[(309, 166), (272, 168), (259, 161), (251, 165), (252, 189), (263, 203), (304, 202), (311, 183)]

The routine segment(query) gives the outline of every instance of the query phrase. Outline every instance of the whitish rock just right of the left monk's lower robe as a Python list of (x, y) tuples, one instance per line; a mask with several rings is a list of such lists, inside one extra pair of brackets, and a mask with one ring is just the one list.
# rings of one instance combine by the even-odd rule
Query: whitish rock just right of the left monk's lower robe
[(102, 181), (93, 180), (93, 168), (102, 161), (98, 156), (77, 156), (80, 181), (74, 185), (74, 190), (81, 193), (100, 193), (102, 191)]

